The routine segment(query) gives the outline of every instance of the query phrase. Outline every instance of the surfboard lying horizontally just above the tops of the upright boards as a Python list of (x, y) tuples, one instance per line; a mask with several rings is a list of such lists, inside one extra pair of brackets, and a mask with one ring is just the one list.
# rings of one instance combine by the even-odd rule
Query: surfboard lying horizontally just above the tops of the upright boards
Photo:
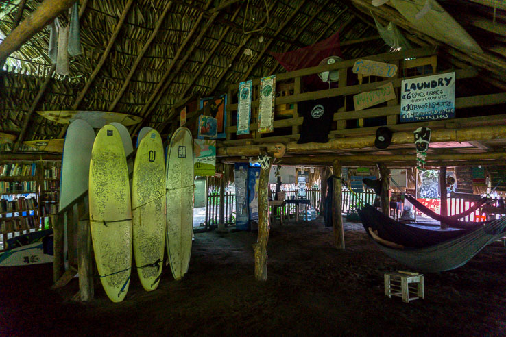
[(76, 119), (83, 119), (91, 127), (98, 129), (111, 122), (118, 122), (125, 126), (135, 125), (143, 120), (139, 116), (120, 114), (119, 112), (82, 111), (82, 110), (51, 110), (38, 111), (40, 116), (60, 124), (69, 124)]

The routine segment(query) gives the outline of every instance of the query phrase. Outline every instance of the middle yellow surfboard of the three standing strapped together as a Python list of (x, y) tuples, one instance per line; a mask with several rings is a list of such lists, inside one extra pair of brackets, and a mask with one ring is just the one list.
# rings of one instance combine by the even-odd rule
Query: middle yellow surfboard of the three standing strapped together
[(138, 277), (146, 291), (158, 287), (165, 249), (165, 155), (151, 130), (138, 145), (132, 185), (132, 234)]

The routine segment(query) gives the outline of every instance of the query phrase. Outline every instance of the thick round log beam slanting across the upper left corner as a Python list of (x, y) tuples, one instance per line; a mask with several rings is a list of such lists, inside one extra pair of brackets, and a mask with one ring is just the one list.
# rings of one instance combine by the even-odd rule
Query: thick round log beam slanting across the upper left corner
[(0, 43), (0, 60), (21, 48), (32, 36), (40, 32), (58, 14), (67, 10), (75, 0), (44, 0), (32, 15), (28, 16)]

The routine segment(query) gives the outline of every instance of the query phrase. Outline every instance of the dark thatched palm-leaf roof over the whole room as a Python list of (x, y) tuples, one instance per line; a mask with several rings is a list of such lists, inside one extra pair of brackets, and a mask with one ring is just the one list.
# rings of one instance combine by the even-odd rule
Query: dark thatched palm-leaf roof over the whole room
[[(40, 2), (26, 1), (21, 20)], [(161, 132), (160, 125), (174, 118), (169, 116), (171, 107), (185, 97), (215, 95), (244, 77), (284, 72), (268, 51), (311, 45), (340, 28), (345, 59), (388, 51), (378, 38), (370, 10), (382, 23), (394, 21), (413, 45), (439, 45), (442, 62), (476, 66), (485, 84), (504, 90), (504, 5), (499, 1), (494, 8), (497, 2), (487, 0), (466, 5), (457, 0), (440, 2), (479, 42), (483, 54), (461, 51), (425, 36), (388, 4), (376, 8), (369, 0), (80, 0), (84, 53), (71, 59), (69, 76), (52, 72), (47, 55), (49, 28), (35, 34), (8, 59), (0, 80), (0, 132), (19, 134), (26, 124), (23, 140), (62, 137), (62, 125), (29, 114), (33, 110), (134, 114), (145, 117), (144, 125)], [(2, 3), (0, 38), (11, 32), (20, 0)], [(270, 9), (268, 21), (265, 5)], [(67, 13), (59, 18), (67, 24)], [(263, 29), (243, 32), (258, 28)], [(347, 45), (361, 38), (369, 39)], [(250, 55), (246, 49), (251, 50)], [(37, 100), (48, 75), (49, 85)]]

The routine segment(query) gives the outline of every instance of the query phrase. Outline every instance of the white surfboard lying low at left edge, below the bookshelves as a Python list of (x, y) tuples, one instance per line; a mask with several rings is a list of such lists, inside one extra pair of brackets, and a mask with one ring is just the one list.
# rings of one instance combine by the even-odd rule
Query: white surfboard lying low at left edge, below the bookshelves
[(17, 247), (0, 254), (0, 266), (29, 266), (51, 262), (53, 255), (44, 253), (43, 242)]

